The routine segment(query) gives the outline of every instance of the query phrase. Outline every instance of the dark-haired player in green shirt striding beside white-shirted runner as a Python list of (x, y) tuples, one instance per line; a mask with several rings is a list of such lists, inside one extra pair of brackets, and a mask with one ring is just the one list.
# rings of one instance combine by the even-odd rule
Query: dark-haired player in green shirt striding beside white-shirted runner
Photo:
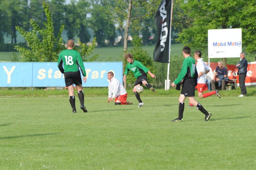
[(183, 61), (180, 74), (178, 75), (178, 78), (176, 78), (176, 80), (174, 80), (174, 82), (172, 83), (172, 87), (174, 87), (175, 84), (183, 82), (179, 98), (179, 117), (172, 121), (183, 121), (183, 112), (185, 106), (184, 100), (186, 99), (186, 97), (188, 97), (188, 100), (191, 104), (196, 106), (197, 109), (204, 113), (205, 121), (208, 121), (212, 114), (206, 111), (206, 109), (204, 109), (204, 107), (200, 103), (196, 102), (195, 99), (195, 86), (197, 84), (198, 73), (196, 70), (196, 62), (194, 59), (192, 59), (192, 57), (190, 57), (189, 47), (185, 46), (183, 48), (183, 56), (185, 57), (185, 59)]

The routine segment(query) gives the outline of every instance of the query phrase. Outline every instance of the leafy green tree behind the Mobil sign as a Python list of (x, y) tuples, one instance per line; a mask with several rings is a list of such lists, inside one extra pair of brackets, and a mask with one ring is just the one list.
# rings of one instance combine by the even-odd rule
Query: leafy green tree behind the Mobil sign
[[(208, 46), (208, 29), (242, 28), (243, 45), (248, 52), (256, 46), (256, 2), (253, 0), (176, 0), (183, 20), (177, 41), (196, 49)], [(226, 64), (226, 58), (223, 58)]]

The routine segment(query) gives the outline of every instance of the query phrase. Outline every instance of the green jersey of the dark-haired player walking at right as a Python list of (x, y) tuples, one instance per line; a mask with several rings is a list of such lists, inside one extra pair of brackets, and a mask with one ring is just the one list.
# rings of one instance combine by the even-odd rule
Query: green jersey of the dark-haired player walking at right
[(182, 79), (194, 78), (197, 73), (196, 71), (196, 62), (192, 57), (187, 57), (183, 61), (183, 65), (178, 75), (178, 78), (174, 80), (174, 84), (178, 84), (182, 81)]

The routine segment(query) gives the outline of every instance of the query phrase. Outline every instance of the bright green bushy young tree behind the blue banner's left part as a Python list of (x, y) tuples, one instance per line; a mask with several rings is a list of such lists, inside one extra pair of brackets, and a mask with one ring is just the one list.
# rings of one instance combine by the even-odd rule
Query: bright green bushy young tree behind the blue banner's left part
[(64, 25), (60, 27), (58, 37), (55, 37), (52, 16), (48, 4), (43, 2), (43, 8), (47, 18), (47, 22), (44, 23), (45, 27), (40, 28), (39, 25), (32, 19), (30, 20), (32, 31), (24, 31), (24, 29), (21, 27), (16, 27), (16, 29), (28, 42), (28, 46), (30, 47), (30, 49), (26, 49), (18, 45), (15, 46), (15, 49), (21, 52), (21, 56), (25, 62), (58, 61), (58, 54), (62, 49), (64, 49), (61, 37), (64, 30)]

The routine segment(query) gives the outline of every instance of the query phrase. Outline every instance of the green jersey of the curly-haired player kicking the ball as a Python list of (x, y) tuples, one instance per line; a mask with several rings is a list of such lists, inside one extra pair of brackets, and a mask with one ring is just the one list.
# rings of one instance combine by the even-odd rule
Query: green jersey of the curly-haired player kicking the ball
[(136, 60), (134, 60), (132, 64), (128, 63), (126, 65), (124, 74), (127, 75), (130, 70), (134, 73), (135, 78), (138, 78), (142, 74), (146, 74), (149, 71), (148, 68)]

